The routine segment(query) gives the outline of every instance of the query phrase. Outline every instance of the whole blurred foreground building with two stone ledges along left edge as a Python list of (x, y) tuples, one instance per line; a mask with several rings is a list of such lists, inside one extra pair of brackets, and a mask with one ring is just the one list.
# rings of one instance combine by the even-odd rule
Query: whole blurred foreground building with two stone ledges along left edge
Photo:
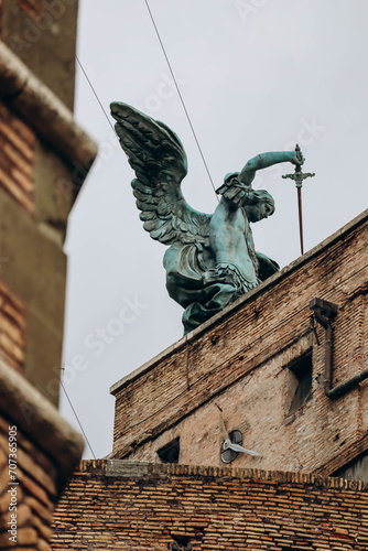
[(84, 445), (55, 409), (63, 242), (96, 155), (73, 120), (76, 19), (74, 0), (0, 0), (1, 550), (50, 549), (52, 512)]

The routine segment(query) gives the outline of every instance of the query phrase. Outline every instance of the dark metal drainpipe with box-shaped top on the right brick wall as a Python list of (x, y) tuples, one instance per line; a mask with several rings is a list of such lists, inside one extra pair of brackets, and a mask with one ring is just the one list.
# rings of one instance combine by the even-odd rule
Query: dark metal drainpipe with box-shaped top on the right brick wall
[(354, 375), (350, 379), (335, 388), (333, 387), (333, 328), (332, 320), (336, 316), (338, 307), (333, 302), (323, 301), (322, 299), (313, 299), (310, 302), (310, 309), (313, 310), (316, 321), (325, 329), (325, 395), (331, 400), (340, 398), (354, 388), (359, 382), (368, 379), (368, 369), (361, 374)]

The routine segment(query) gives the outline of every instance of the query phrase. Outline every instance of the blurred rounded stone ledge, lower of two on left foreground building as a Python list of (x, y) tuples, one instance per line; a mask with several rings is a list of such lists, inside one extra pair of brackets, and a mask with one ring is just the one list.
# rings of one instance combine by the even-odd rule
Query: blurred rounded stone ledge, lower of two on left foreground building
[(28, 380), (0, 359), (0, 411), (58, 467), (66, 480), (79, 461), (84, 441)]

